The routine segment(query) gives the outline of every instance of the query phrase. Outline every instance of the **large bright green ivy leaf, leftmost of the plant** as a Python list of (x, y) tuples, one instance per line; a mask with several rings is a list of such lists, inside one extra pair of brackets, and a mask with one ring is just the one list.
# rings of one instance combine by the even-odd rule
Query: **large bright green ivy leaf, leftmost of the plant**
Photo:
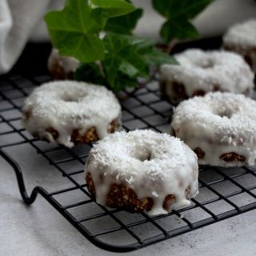
[(101, 30), (86, 0), (68, 0), (64, 10), (46, 14), (46, 24), (55, 48), (80, 62), (102, 60), (105, 47), (96, 35)]

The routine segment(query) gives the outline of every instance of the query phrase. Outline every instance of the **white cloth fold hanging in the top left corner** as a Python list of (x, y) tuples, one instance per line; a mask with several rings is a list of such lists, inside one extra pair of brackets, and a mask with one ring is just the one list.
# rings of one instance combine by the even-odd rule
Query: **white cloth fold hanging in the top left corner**
[(0, 0), (0, 74), (17, 61), (50, 0)]

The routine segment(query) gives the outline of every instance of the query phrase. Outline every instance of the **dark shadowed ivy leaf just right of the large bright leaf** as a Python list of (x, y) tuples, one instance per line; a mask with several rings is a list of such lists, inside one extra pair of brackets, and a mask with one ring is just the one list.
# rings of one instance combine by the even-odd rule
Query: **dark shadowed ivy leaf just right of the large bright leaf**
[(137, 9), (121, 17), (110, 18), (106, 22), (105, 30), (118, 34), (131, 34), (137, 25), (139, 18), (142, 17), (143, 10)]

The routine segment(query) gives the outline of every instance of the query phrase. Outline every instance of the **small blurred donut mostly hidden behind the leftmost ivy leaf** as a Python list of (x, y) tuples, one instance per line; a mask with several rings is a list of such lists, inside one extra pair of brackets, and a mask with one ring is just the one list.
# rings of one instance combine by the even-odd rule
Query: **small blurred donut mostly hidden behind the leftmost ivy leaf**
[(48, 70), (54, 79), (71, 79), (79, 62), (76, 58), (61, 56), (53, 49), (48, 58)]

